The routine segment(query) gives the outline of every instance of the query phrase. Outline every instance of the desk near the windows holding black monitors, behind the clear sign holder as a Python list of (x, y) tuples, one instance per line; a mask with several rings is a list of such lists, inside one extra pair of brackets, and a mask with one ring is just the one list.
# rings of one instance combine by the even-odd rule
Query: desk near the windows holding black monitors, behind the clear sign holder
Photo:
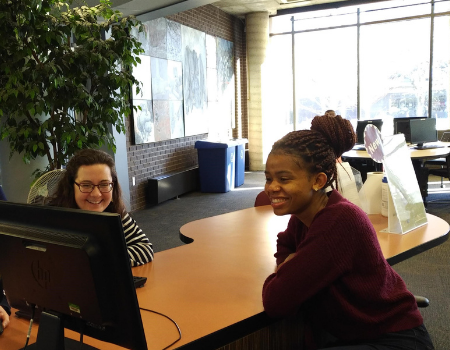
[[(417, 182), (419, 184), (420, 193), (422, 195), (423, 201), (426, 204), (426, 198), (428, 197), (428, 168), (424, 166), (425, 162), (430, 159), (445, 158), (450, 154), (450, 147), (442, 148), (432, 148), (418, 150), (414, 148), (409, 148), (410, 157), (414, 167), (414, 172), (416, 173)], [(367, 170), (364, 171), (364, 166), (366, 162), (371, 162), (375, 164), (375, 161), (370, 158), (367, 151), (350, 150), (342, 155), (342, 159), (348, 161), (351, 166), (361, 171), (365, 172), (362, 175), (363, 181), (366, 179)], [(358, 163), (363, 163), (361, 167)], [(381, 171), (381, 164), (376, 163), (373, 165), (372, 169), (368, 171)]]

